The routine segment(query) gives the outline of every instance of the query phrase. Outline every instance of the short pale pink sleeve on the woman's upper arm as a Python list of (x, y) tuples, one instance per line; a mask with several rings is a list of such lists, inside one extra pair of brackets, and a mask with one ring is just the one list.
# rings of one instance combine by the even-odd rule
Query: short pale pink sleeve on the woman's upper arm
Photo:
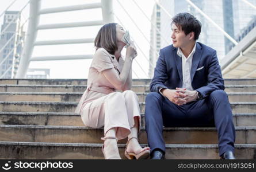
[(91, 67), (97, 69), (99, 72), (105, 71), (106, 69), (112, 69), (114, 68), (114, 64), (111, 58), (112, 57), (109, 56), (109, 54), (107, 54), (105, 50), (98, 49), (93, 57)]

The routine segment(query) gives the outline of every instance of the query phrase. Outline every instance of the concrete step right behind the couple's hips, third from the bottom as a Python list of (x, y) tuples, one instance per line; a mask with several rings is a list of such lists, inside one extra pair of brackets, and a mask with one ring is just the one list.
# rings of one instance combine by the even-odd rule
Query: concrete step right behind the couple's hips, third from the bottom
[[(142, 126), (145, 126), (144, 114)], [(256, 114), (233, 114), (238, 127), (256, 127)], [(0, 124), (33, 126), (85, 126), (81, 116), (68, 112), (0, 112)]]

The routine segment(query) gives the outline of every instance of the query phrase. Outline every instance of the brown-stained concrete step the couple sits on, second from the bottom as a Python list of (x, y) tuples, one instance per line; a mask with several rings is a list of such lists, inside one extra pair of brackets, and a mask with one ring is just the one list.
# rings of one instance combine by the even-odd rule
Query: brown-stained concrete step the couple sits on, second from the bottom
[[(236, 144), (256, 144), (256, 127), (235, 127)], [(1, 142), (101, 143), (103, 128), (75, 126), (0, 125)], [(172, 127), (163, 129), (166, 144), (217, 144), (216, 128)], [(141, 127), (140, 143), (147, 143)], [(120, 140), (126, 143), (127, 139)]]

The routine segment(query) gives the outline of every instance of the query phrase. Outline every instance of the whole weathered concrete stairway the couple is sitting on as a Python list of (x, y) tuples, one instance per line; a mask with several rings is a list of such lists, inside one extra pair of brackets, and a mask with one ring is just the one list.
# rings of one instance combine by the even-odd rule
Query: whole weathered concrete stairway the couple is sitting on
[[(133, 80), (142, 113), (142, 146), (145, 98), (149, 79)], [(83, 126), (75, 107), (87, 80), (1, 79), (1, 159), (102, 159), (103, 129)], [(256, 159), (256, 80), (227, 79), (226, 92), (234, 113), (235, 155)], [(216, 128), (165, 128), (167, 159), (219, 159)], [(126, 140), (120, 140), (124, 158)]]

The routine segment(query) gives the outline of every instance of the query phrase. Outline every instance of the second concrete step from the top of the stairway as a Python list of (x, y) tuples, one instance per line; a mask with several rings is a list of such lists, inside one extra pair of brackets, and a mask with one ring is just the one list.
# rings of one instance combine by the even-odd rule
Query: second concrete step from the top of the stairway
[[(226, 92), (256, 92), (256, 85), (225, 85)], [(84, 92), (87, 85), (0, 85), (0, 92)], [(150, 92), (150, 85), (133, 85), (134, 92)]]

